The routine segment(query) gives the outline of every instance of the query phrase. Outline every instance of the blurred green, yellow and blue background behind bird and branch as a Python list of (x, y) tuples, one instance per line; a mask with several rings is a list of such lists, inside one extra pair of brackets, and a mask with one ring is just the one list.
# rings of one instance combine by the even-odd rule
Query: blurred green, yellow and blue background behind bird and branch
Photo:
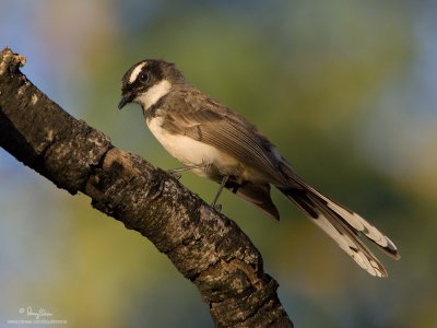
[[(437, 327), (437, 2), (2, 1), (0, 48), (75, 118), (162, 168), (119, 112), (120, 79), (162, 58), (246, 116), (320, 190), (386, 232), (376, 279), (277, 192), (275, 223), (226, 192), (296, 327)], [(184, 174), (211, 201), (216, 185)], [(0, 149), (0, 326), (45, 308), (68, 327), (212, 327), (196, 288), (138, 233)]]

